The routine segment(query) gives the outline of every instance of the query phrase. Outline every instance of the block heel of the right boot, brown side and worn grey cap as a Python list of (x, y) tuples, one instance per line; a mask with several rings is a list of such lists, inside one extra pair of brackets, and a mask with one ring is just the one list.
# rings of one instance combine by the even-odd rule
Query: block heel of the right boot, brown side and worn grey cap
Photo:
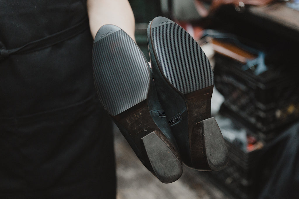
[(191, 138), (190, 154), (195, 169), (219, 171), (227, 165), (228, 150), (215, 118), (196, 123)]

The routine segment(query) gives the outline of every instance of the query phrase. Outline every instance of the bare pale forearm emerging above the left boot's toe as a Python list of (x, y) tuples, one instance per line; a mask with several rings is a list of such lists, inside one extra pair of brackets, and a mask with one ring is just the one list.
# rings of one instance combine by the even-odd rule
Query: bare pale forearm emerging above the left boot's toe
[(87, 0), (87, 10), (93, 38), (101, 26), (113, 24), (135, 40), (135, 19), (127, 0)]

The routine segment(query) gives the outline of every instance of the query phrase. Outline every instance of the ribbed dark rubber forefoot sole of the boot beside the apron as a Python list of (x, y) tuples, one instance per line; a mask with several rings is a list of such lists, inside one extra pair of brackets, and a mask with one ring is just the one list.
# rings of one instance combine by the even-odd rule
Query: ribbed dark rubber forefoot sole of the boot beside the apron
[(147, 98), (149, 68), (123, 30), (103, 27), (93, 46), (94, 83), (103, 107), (115, 116)]

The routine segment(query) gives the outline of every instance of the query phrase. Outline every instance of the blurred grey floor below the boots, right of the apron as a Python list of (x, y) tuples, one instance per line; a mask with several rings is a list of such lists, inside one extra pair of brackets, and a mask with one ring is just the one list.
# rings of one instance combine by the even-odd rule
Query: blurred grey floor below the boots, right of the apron
[(220, 189), (184, 166), (183, 175), (173, 183), (161, 183), (137, 158), (118, 128), (115, 132), (117, 199), (228, 199)]

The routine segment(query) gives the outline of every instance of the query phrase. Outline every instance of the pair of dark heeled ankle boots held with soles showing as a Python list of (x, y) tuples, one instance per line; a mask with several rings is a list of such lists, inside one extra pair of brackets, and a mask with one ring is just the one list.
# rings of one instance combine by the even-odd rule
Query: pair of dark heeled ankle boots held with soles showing
[(182, 162), (218, 171), (228, 162), (211, 117), (214, 76), (196, 41), (178, 24), (154, 18), (147, 38), (151, 67), (123, 30), (102, 26), (92, 61), (97, 95), (138, 158), (161, 182), (181, 177)]

